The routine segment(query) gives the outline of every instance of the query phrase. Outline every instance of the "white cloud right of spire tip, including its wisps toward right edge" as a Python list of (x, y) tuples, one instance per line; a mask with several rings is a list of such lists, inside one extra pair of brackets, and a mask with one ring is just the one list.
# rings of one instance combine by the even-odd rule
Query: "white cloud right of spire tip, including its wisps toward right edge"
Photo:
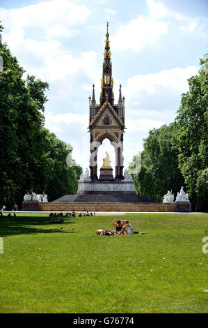
[[(111, 36), (112, 49), (141, 52), (145, 47), (159, 45), (161, 37), (168, 33), (170, 26), (189, 33), (197, 29), (202, 30), (199, 18), (191, 18), (169, 10), (160, 1), (147, 0), (147, 7), (149, 9), (147, 16), (139, 15), (127, 24), (121, 25)], [(182, 22), (182, 25), (179, 25), (178, 21)]]

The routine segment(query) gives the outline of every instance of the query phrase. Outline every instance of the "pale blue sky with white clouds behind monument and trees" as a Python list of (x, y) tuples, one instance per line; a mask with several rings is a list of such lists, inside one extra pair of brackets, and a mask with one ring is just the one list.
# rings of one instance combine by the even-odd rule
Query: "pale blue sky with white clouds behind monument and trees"
[[(109, 21), (115, 103), (125, 96), (125, 166), (152, 128), (176, 116), (187, 79), (207, 53), (207, 0), (0, 0), (3, 41), (30, 75), (49, 82), (45, 127), (89, 161), (88, 96), (99, 103)], [(113, 147), (105, 151), (115, 165)]]

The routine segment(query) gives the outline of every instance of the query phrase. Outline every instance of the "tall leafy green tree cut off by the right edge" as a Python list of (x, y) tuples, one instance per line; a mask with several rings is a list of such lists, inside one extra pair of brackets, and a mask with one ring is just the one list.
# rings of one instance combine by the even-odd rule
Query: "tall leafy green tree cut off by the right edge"
[(191, 77), (177, 112), (179, 168), (184, 176), (193, 209), (207, 210), (208, 199), (208, 56)]

